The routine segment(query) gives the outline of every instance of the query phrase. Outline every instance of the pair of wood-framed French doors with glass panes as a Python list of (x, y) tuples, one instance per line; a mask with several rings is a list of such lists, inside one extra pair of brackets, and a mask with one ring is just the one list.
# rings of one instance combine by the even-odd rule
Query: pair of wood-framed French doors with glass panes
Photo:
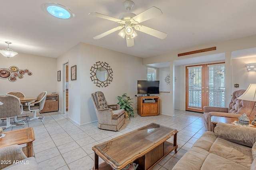
[(186, 110), (225, 107), (225, 63), (186, 66)]

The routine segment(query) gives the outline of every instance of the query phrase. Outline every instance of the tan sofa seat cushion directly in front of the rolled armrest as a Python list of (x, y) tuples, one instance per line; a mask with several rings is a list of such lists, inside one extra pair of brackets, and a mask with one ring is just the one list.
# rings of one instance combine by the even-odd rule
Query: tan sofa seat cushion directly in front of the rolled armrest
[(250, 168), (253, 161), (251, 147), (239, 145), (221, 138), (217, 138), (214, 141), (209, 152), (247, 168)]

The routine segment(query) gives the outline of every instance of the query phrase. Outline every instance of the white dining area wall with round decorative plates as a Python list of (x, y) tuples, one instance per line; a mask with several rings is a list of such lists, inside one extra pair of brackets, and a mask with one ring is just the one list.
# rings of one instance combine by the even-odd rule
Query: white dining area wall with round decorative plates
[(25, 74), (23, 78), (10, 82), (8, 79), (0, 78), (0, 94), (10, 91), (20, 91), (25, 96), (36, 97), (43, 91), (48, 94), (56, 92), (57, 70), (56, 58), (42, 57), (18, 53), (18, 55), (7, 59), (0, 55), (0, 68), (17, 66), (19, 69), (28, 69), (31, 76)]

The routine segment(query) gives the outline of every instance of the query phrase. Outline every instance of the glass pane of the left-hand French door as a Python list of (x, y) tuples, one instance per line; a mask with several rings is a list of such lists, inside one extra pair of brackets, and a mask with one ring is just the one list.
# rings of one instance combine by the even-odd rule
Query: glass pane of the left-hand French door
[(202, 107), (202, 66), (188, 68), (188, 107)]

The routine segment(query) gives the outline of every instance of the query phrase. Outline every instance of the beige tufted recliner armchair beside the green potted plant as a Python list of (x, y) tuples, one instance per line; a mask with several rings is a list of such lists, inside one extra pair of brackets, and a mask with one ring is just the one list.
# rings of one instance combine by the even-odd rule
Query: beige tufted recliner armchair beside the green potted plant
[(124, 109), (117, 104), (108, 105), (102, 92), (92, 93), (92, 101), (98, 118), (98, 128), (118, 131), (124, 125)]

